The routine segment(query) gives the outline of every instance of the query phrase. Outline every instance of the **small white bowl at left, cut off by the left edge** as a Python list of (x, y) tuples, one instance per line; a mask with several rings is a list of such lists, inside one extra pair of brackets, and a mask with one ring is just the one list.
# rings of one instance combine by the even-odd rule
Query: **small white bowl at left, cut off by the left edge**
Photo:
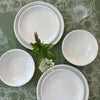
[(29, 82), (35, 71), (33, 58), (24, 50), (12, 49), (0, 58), (0, 78), (13, 87)]

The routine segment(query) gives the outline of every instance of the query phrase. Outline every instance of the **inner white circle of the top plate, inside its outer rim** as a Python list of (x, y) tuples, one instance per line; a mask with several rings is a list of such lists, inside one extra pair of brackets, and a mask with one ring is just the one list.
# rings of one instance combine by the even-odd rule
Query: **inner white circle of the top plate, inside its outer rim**
[(34, 32), (44, 43), (51, 43), (59, 33), (58, 16), (50, 8), (35, 5), (26, 9), (19, 19), (19, 33), (27, 42), (35, 42)]

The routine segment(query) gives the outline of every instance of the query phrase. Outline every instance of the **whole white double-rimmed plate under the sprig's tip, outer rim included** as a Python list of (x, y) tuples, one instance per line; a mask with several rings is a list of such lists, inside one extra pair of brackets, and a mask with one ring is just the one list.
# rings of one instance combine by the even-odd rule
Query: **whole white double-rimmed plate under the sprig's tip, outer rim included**
[[(39, 16), (40, 10), (41, 10), (41, 14), (44, 15), (42, 16), (43, 18)], [(27, 17), (29, 13), (32, 14), (30, 18)], [(49, 16), (49, 19), (48, 19), (48, 16)], [(44, 21), (44, 17), (46, 17), (45, 21)], [(36, 22), (31, 23), (33, 26), (35, 26), (35, 29), (37, 30), (35, 29), (32, 30), (31, 25), (29, 25), (29, 22), (32, 21), (32, 18), (37, 20)], [(20, 28), (19, 26), (22, 26), (21, 23), (23, 23), (25, 26)], [(55, 27), (56, 27), (56, 30), (55, 30)], [(23, 29), (24, 30), (26, 29), (26, 30), (23, 31)], [(44, 41), (44, 43), (56, 44), (60, 40), (63, 34), (63, 30), (64, 30), (64, 21), (63, 21), (62, 15), (53, 5), (45, 3), (45, 2), (32, 2), (30, 4), (27, 4), (26, 6), (20, 9), (20, 11), (17, 13), (14, 20), (14, 32), (15, 32), (16, 38), (23, 46), (25, 46), (28, 49), (32, 49), (30, 42), (34, 42), (35, 31), (38, 32), (39, 38), (42, 41)]]

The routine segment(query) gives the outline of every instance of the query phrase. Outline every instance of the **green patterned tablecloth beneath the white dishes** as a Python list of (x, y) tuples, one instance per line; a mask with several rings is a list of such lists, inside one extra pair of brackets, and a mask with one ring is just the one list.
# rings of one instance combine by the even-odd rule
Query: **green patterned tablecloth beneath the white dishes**
[[(30, 52), (24, 48), (16, 39), (13, 30), (14, 18), (18, 10), (25, 4), (38, 0), (0, 0), (0, 56), (7, 50), (20, 48)], [(53, 48), (55, 54), (55, 64), (69, 64), (63, 57), (61, 51), (62, 40), (65, 35), (75, 29), (85, 29), (90, 31), (97, 39), (100, 47), (100, 0), (41, 0), (53, 4), (61, 12), (64, 22), (64, 34), (58, 44)], [(73, 9), (77, 5), (86, 6), (87, 15), (77, 16), (77, 12)], [(84, 11), (83, 11), (84, 12)], [(86, 17), (87, 16), (87, 17)], [(86, 17), (86, 18), (85, 18)], [(79, 21), (77, 21), (77, 18)], [(34, 58), (36, 61), (36, 58)], [(100, 100), (100, 50), (97, 58), (93, 63), (77, 67), (86, 76), (89, 83), (90, 96), (89, 100)], [(36, 71), (32, 80), (26, 85), (13, 88), (5, 85), (0, 81), (0, 100), (37, 100), (36, 86), (39, 77), (36, 61)]]

